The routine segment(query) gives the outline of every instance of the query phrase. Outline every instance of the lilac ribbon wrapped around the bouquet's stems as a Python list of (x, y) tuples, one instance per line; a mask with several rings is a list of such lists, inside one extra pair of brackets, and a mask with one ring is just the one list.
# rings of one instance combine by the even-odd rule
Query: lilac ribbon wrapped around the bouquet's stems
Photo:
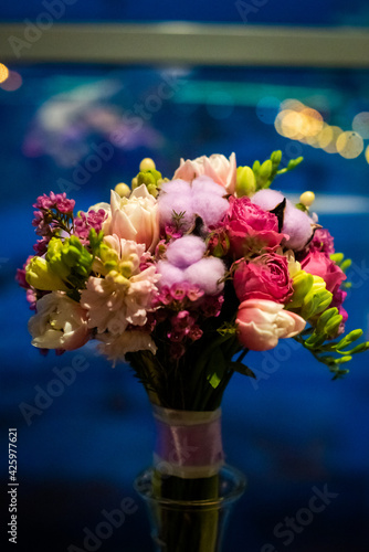
[(224, 464), (221, 408), (192, 412), (154, 405), (157, 469), (184, 479), (211, 477)]

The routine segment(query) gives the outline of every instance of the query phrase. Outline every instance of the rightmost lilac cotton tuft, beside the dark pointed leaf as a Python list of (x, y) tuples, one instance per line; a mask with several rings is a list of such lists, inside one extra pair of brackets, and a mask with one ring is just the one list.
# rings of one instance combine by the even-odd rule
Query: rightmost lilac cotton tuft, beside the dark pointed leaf
[(283, 245), (295, 251), (303, 250), (312, 237), (312, 219), (287, 201), (282, 232), (289, 236), (286, 242), (282, 242)]

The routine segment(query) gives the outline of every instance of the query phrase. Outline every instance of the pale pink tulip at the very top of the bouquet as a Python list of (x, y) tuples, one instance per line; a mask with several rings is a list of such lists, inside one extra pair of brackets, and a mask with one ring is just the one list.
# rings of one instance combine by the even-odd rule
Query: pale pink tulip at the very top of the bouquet
[(180, 178), (187, 180), (187, 182), (192, 182), (193, 179), (201, 176), (210, 177), (217, 184), (225, 188), (228, 193), (234, 193), (236, 179), (235, 155), (232, 153), (230, 159), (219, 153), (213, 153), (210, 157), (198, 157), (192, 161), (181, 159), (173, 179)]

